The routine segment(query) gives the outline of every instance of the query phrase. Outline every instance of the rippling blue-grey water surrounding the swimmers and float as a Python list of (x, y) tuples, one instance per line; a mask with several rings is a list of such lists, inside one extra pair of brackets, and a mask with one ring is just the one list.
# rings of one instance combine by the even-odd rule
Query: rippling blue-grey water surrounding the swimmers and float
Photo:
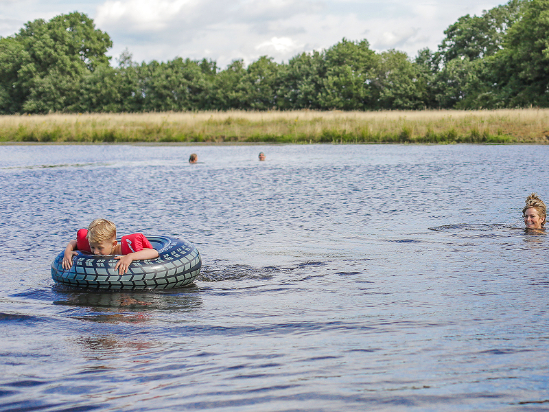
[[(0, 146), (0, 410), (545, 411), (522, 207), (548, 171), (549, 146)], [(54, 284), (98, 217), (190, 240), (200, 277)]]

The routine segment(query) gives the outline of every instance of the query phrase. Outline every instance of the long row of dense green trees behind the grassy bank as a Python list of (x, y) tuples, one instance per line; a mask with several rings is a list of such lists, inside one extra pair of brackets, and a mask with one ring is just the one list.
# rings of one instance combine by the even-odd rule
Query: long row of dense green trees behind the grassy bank
[(0, 113), (549, 106), (549, 0), (511, 0), (444, 33), (413, 59), (343, 39), (281, 64), (138, 63), (126, 51), (113, 66), (108, 34), (73, 12), (0, 38)]

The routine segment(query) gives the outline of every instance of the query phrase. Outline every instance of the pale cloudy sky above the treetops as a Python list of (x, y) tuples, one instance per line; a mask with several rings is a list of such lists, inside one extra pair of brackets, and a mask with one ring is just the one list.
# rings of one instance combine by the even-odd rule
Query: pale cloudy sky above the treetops
[(35, 19), (78, 11), (107, 32), (111, 63), (125, 49), (137, 62), (176, 57), (246, 64), (260, 56), (288, 62), (342, 38), (414, 58), (436, 50), (444, 30), (465, 14), (480, 15), (497, 0), (0, 0), (0, 36)]

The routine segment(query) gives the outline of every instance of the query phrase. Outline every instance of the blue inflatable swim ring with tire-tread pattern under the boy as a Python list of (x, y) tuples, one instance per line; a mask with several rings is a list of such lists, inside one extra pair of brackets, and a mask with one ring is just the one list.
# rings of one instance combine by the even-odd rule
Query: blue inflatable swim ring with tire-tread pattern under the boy
[(135, 260), (125, 275), (115, 271), (118, 260), (111, 256), (78, 252), (67, 271), (61, 263), (65, 251), (51, 264), (55, 282), (69, 286), (95, 289), (180, 288), (194, 282), (200, 273), (202, 259), (194, 244), (167, 236), (147, 236), (159, 257)]

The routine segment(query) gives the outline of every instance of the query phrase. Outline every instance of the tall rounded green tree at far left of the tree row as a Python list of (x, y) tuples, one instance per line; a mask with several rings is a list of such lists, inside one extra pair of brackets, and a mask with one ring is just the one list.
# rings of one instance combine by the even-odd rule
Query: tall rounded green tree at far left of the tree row
[[(105, 53), (112, 46), (108, 34), (78, 12), (28, 22), (2, 41), (0, 95), (11, 97), (10, 104), (0, 108), (4, 113), (65, 111), (77, 104), (82, 79), (108, 65)], [(15, 49), (19, 56), (9, 64), (5, 59)]]

